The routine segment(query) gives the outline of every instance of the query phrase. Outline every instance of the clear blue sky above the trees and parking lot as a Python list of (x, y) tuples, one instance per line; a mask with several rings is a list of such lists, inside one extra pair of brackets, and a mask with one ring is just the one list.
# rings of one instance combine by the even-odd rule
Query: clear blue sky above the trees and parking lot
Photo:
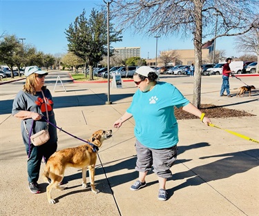
[[(65, 29), (75, 18), (86, 10), (90, 14), (92, 8), (104, 5), (103, 0), (0, 0), (0, 34), (16, 35), (25, 38), (24, 43), (30, 43), (46, 54), (66, 53), (67, 44)], [(226, 56), (240, 56), (234, 46), (234, 37), (217, 39), (216, 50), (225, 50)], [(131, 30), (123, 33), (123, 41), (113, 43), (119, 47), (141, 47), (142, 58), (155, 58), (155, 37), (146, 37), (144, 34), (135, 34)], [(159, 51), (169, 49), (193, 49), (191, 37), (160, 37), (157, 41), (157, 55)]]

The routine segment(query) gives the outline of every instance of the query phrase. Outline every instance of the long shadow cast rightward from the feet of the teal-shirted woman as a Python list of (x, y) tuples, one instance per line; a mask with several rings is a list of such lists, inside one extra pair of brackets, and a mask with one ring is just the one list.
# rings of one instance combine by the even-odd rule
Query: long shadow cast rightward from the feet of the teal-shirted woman
[[(209, 164), (196, 166), (190, 170), (175, 173), (173, 180), (186, 179), (186, 181), (178, 186), (169, 189), (169, 194), (173, 191), (186, 188), (188, 186), (198, 186), (209, 181), (218, 179), (226, 179), (238, 173), (247, 172), (251, 168), (259, 165), (259, 149), (244, 150), (236, 153), (227, 153), (222, 155), (212, 155), (207, 157), (200, 157), (200, 159), (207, 159), (211, 157), (224, 157), (218, 161), (213, 161)], [(190, 178), (191, 177), (191, 178)]]

